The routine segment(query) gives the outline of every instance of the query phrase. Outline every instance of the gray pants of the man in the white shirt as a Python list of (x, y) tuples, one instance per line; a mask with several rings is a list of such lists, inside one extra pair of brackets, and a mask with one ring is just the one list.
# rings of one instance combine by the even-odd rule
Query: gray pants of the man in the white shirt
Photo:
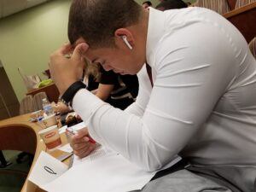
[(256, 192), (256, 167), (188, 166), (135, 192)]

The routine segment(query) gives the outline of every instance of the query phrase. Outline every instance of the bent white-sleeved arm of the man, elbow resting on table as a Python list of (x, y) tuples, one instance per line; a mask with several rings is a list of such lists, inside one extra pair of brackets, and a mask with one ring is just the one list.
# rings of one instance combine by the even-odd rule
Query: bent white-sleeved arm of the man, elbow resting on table
[[(104, 105), (90, 92), (79, 90), (73, 108), (89, 123), (90, 136), (149, 171), (170, 162), (206, 122), (235, 76), (229, 40), (213, 26), (207, 32), (183, 41), (174, 33), (163, 40), (153, 67), (157, 77), (142, 117)], [(206, 49), (209, 44), (211, 49)]]

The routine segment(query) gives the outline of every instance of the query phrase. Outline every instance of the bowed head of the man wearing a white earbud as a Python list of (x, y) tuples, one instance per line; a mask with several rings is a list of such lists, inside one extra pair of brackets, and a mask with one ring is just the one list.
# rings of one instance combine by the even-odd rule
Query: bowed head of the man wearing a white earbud
[(148, 25), (144, 22), (145, 15), (142, 7), (132, 0), (73, 0), (68, 38), (74, 46), (88, 44), (85, 57), (101, 63), (106, 70), (137, 73), (136, 65), (145, 61), (142, 58)]

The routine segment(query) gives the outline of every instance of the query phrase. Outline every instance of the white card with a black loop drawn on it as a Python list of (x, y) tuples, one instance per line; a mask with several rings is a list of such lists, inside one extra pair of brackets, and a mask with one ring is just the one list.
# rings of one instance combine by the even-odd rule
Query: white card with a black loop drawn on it
[(67, 169), (68, 167), (61, 163), (60, 160), (56, 160), (51, 155), (42, 151), (28, 180), (41, 187), (55, 180), (56, 177), (60, 177), (64, 172), (67, 172)]

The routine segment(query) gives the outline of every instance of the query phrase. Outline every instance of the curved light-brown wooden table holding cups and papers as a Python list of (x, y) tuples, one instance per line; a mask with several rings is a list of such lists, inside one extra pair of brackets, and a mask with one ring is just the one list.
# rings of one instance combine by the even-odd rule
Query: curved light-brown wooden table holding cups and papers
[[(32, 167), (35, 165), (36, 161), (38, 160), (38, 156), (41, 151), (46, 151), (47, 148), (45, 147), (44, 143), (40, 139), (38, 135), (38, 131), (42, 130), (42, 128), (37, 123), (29, 122), (30, 114), (20, 115), (15, 118), (11, 119), (4, 119), (0, 121), (0, 137), (1, 132), (4, 134), (7, 134), (8, 132), (12, 135), (15, 135), (14, 138), (10, 137), (1, 137), (0, 139), (0, 149), (13, 149), (13, 150), (22, 150), (26, 151), (32, 154), (35, 154), (34, 160), (32, 162), (32, 166), (30, 169), (30, 172), (32, 171)], [(7, 132), (8, 131), (8, 132)], [(22, 131), (23, 134), (20, 134), (20, 131)], [(31, 142), (28, 142), (26, 137), (26, 131), (28, 133), (28, 137), (34, 137), (34, 139), (31, 139)], [(19, 134), (19, 138), (17, 140), (16, 135)], [(6, 138), (6, 139), (5, 139)], [(35, 140), (35, 141), (34, 141)], [(67, 143), (67, 138), (65, 134), (61, 134), (61, 142), (62, 144)], [(27, 146), (27, 143), (29, 143), (29, 146)], [(52, 156), (58, 157), (61, 154), (65, 154), (65, 152), (62, 152), (60, 150), (55, 150), (51, 153)], [(65, 164), (69, 164), (69, 159), (64, 161)], [(30, 174), (28, 173), (28, 175)], [(31, 183), (27, 180), (23, 185), (23, 188), (21, 189), (21, 192), (35, 192), (35, 191), (44, 191), (42, 189), (39, 189), (38, 186), (36, 186), (34, 183)]]

